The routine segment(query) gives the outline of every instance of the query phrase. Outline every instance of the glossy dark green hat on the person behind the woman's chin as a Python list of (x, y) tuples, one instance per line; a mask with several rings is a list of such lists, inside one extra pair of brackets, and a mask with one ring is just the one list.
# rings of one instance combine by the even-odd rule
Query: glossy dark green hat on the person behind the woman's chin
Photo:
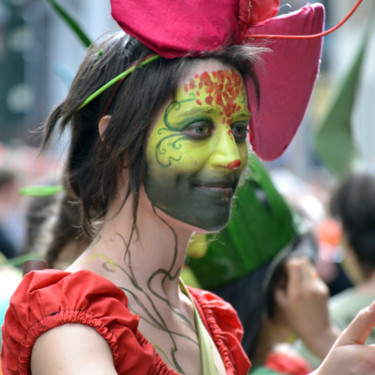
[[(296, 237), (294, 215), (268, 171), (255, 155), (250, 155), (248, 165), (251, 175), (236, 191), (228, 225), (219, 233), (203, 235), (207, 248), (203, 257), (187, 258), (187, 265), (204, 289), (249, 274)], [(194, 249), (188, 253), (194, 253)]]

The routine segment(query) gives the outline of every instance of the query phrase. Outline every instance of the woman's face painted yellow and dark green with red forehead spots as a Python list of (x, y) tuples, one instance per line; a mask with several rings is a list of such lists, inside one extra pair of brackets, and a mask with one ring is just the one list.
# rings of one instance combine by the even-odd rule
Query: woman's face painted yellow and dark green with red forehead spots
[[(146, 149), (146, 194), (171, 217), (207, 231), (225, 226), (247, 164), (250, 113), (242, 78), (207, 62), (157, 119)], [(204, 67), (204, 68), (203, 68)], [(200, 68), (200, 69), (199, 69)], [(205, 70), (204, 70), (205, 69)]]

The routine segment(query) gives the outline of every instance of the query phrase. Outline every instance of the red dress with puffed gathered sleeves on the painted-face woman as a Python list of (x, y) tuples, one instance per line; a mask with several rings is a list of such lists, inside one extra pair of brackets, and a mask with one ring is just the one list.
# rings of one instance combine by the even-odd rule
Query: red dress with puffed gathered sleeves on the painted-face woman
[[(227, 374), (245, 375), (250, 362), (240, 341), (243, 330), (234, 309), (218, 296), (189, 288)], [(93, 327), (108, 342), (120, 375), (176, 375), (138, 331), (139, 317), (127, 308), (124, 292), (91, 271), (28, 273), (11, 298), (3, 332), (4, 375), (30, 374), (30, 354), (45, 331), (65, 323)]]

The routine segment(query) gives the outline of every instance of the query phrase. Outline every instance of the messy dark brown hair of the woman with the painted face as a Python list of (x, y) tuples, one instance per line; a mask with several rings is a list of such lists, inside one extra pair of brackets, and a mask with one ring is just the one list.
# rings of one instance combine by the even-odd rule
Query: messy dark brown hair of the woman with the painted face
[[(71, 144), (64, 185), (81, 203), (82, 225), (87, 234), (95, 232), (94, 223), (104, 217), (111, 200), (116, 197), (124, 168), (128, 169), (128, 180), (123, 203), (133, 196), (135, 228), (138, 193), (146, 172), (144, 145), (147, 132), (160, 108), (175, 96), (178, 79), (191, 62), (215, 58), (233, 66), (244, 79), (250, 78), (254, 83), (254, 95), (258, 98), (259, 87), (254, 72), (257, 51), (253, 47), (231, 46), (198, 58), (159, 58), (136, 69), (120, 86), (105, 90), (78, 110), (93, 92), (132, 64), (153, 54), (148, 47), (123, 32), (109, 34), (89, 48), (67, 98), (47, 119), (42, 143), (42, 148), (46, 148), (58, 123), (61, 133), (70, 125)], [(110, 98), (109, 108), (106, 108)], [(98, 123), (104, 110), (112, 118), (101, 138)]]

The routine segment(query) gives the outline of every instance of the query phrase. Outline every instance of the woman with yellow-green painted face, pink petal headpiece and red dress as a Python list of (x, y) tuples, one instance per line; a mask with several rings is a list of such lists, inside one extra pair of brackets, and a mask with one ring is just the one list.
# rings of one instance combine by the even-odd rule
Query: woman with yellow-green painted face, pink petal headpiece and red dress
[[(254, 150), (272, 159), (305, 111), (321, 40), (274, 43), (261, 69), (263, 50), (248, 42), (252, 32), (320, 32), (323, 8), (277, 10), (274, 0), (112, 1), (128, 35), (89, 48), (43, 142), (70, 129), (63, 183), (93, 241), (66, 271), (23, 278), (2, 330), (5, 375), (247, 374), (233, 308), (179, 275), (191, 233), (229, 219), (248, 123)], [(342, 348), (372, 323), (368, 310), (317, 374), (349, 374), (369, 348)], [(373, 370), (362, 366), (357, 374)]]

